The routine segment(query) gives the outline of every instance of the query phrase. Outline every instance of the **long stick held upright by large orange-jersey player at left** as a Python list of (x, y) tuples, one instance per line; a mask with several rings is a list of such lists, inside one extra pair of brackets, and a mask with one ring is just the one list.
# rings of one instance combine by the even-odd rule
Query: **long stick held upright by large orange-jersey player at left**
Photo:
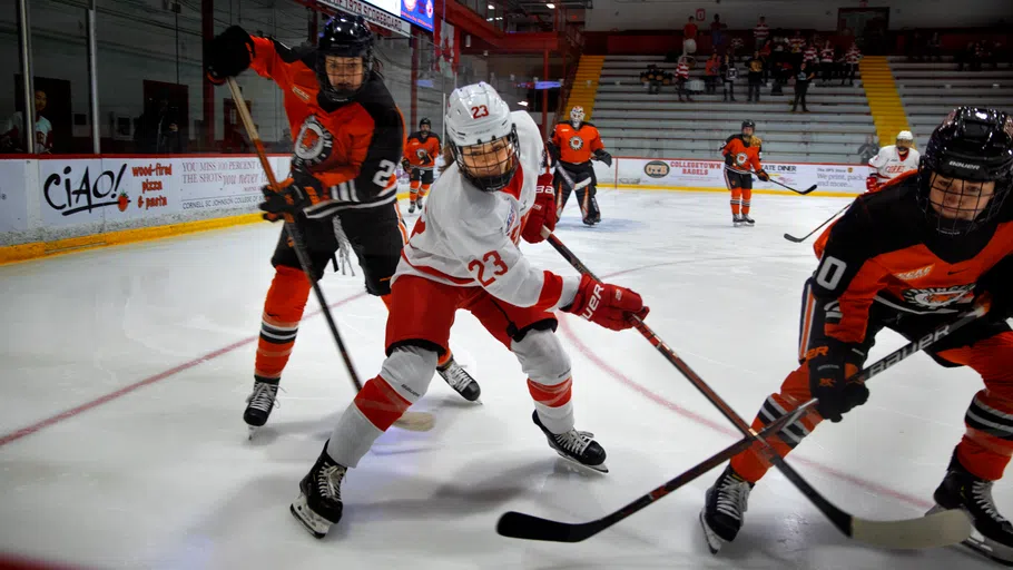
[[(239, 112), (239, 119), (243, 121), (246, 134), (249, 136), (249, 140), (257, 151), (257, 158), (260, 160), (264, 174), (267, 175), (267, 181), (273, 188), (278, 188), (278, 180), (274, 175), (271, 163), (267, 161), (267, 151), (264, 150), (264, 144), (260, 141), (260, 136), (257, 134), (257, 127), (254, 125), (253, 117), (249, 116), (249, 109), (246, 108), (246, 101), (243, 99), (239, 86), (233, 77), (228, 78), (228, 90), (232, 91), (233, 100)], [(305, 242), (303, 242), (302, 232), (299, 232), (295, 218), (288, 214), (285, 215), (285, 230), (288, 232), (288, 237), (292, 238), (292, 248), (295, 250), (295, 255), (299, 261), (299, 265), (303, 267), (303, 272), (306, 274), (306, 278), (309, 279), (309, 283), (313, 285), (313, 293), (316, 294), (316, 301), (319, 303), (321, 312), (324, 313), (324, 318), (327, 321), (327, 326), (331, 328), (331, 335), (334, 336), (334, 342), (337, 343), (337, 351), (341, 353), (342, 360), (345, 361), (345, 368), (347, 368), (348, 376), (355, 385), (355, 391), (360, 392), (362, 391), (362, 381), (358, 380), (358, 374), (355, 372), (355, 365), (352, 364), (352, 356), (348, 354), (348, 350), (345, 347), (345, 343), (337, 332), (337, 325), (334, 323), (334, 316), (331, 314), (331, 308), (327, 306), (327, 301), (324, 298), (324, 292), (321, 291), (317, 279), (313, 278), (313, 272), (311, 271), (312, 264), (309, 263), (309, 256), (306, 254), (306, 246)], [(433, 423), (434, 420), (432, 414), (424, 412), (405, 412), (401, 419), (394, 422), (394, 425), (415, 432), (427, 432), (433, 429)]]

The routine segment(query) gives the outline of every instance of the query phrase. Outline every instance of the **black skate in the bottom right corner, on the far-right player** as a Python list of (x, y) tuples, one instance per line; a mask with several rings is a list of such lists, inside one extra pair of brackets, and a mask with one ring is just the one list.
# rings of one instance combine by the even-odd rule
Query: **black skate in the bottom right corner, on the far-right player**
[(961, 509), (971, 518), (974, 530), (964, 546), (1005, 566), (1013, 566), (1013, 524), (1003, 518), (992, 499), (992, 481), (972, 475), (961, 465), (956, 453), (950, 460), (946, 478), (933, 495), (936, 505), (930, 514), (950, 509)]

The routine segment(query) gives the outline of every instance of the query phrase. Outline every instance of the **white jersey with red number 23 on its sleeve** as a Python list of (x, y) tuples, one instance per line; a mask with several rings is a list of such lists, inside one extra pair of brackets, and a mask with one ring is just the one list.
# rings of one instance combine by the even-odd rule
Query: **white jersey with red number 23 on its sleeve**
[(482, 191), (452, 164), (433, 184), (392, 283), (415, 275), (459, 287), (484, 287), (511, 305), (545, 311), (573, 302), (580, 277), (537, 269), (518, 248), (534, 204), (544, 145), (528, 112), (511, 116), (521, 160), (513, 180), (502, 190)]

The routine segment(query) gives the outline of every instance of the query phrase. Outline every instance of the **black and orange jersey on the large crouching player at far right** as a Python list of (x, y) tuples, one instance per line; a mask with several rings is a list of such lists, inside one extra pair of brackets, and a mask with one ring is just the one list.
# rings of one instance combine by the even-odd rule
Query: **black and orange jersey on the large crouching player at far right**
[(810, 347), (820, 336), (864, 342), (873, 303), (915, 315), (961, 313), (982, 275), (1013, 255), (1013, 202), (989, 224), (953, 237), (926, 222), (917, 191), (917, 173), (898, 177), (859, 196), (820, 236), (812, 305), (826, 324), (822, 335), (813, 331)]

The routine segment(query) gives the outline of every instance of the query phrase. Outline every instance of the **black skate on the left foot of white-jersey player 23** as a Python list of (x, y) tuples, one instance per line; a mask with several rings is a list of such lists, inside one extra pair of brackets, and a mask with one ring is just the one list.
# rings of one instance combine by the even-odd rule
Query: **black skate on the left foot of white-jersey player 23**
[(314, 537), (327, 535), (332, 524), (341, 520), (343, 504), (341, 483), (348, 471), (327, 455), (327, 444), (306, 476), (299, 481), (299, 497), (288, 508), (292, 515)]

